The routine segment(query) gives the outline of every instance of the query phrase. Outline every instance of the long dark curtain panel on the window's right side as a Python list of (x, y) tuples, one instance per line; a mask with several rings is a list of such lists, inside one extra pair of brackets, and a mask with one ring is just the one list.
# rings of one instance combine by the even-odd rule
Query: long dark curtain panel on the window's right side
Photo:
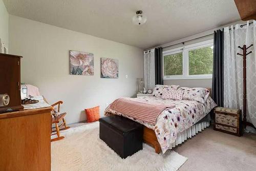
[(214, 31), (214, 66), (212, 71), (212, 99), (218, 106), (224, 103), (224, 31)]

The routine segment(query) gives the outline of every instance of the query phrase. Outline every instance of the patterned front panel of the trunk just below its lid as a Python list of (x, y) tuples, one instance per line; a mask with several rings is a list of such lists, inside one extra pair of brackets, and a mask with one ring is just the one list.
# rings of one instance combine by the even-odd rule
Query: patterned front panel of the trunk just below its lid
[(238, 117), (227, 114), (215, 113), (215, 122), (237, 127)]

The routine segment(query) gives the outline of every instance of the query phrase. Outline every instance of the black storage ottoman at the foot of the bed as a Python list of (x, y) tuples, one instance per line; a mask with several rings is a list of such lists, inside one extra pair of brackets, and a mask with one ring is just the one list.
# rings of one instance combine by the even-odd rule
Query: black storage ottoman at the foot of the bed
[(142, 149), (143, 125), (118, 115), (100, 118), (99, 123), (99, 138), (121, 158)]

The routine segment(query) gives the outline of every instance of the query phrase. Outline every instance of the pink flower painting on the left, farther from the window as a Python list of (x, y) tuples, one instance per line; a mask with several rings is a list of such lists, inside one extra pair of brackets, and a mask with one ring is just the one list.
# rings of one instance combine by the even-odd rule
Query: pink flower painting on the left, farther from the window
[(94, 75), (94, 58), (92, 53), (70, 51), (71, 75)]

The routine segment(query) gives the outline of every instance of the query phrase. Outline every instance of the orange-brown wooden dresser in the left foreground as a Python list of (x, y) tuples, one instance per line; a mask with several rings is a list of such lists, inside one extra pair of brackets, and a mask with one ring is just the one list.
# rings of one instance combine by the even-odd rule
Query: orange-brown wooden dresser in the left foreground
[(0, 170), (51, 170), (51, 108), (0, 114)]

